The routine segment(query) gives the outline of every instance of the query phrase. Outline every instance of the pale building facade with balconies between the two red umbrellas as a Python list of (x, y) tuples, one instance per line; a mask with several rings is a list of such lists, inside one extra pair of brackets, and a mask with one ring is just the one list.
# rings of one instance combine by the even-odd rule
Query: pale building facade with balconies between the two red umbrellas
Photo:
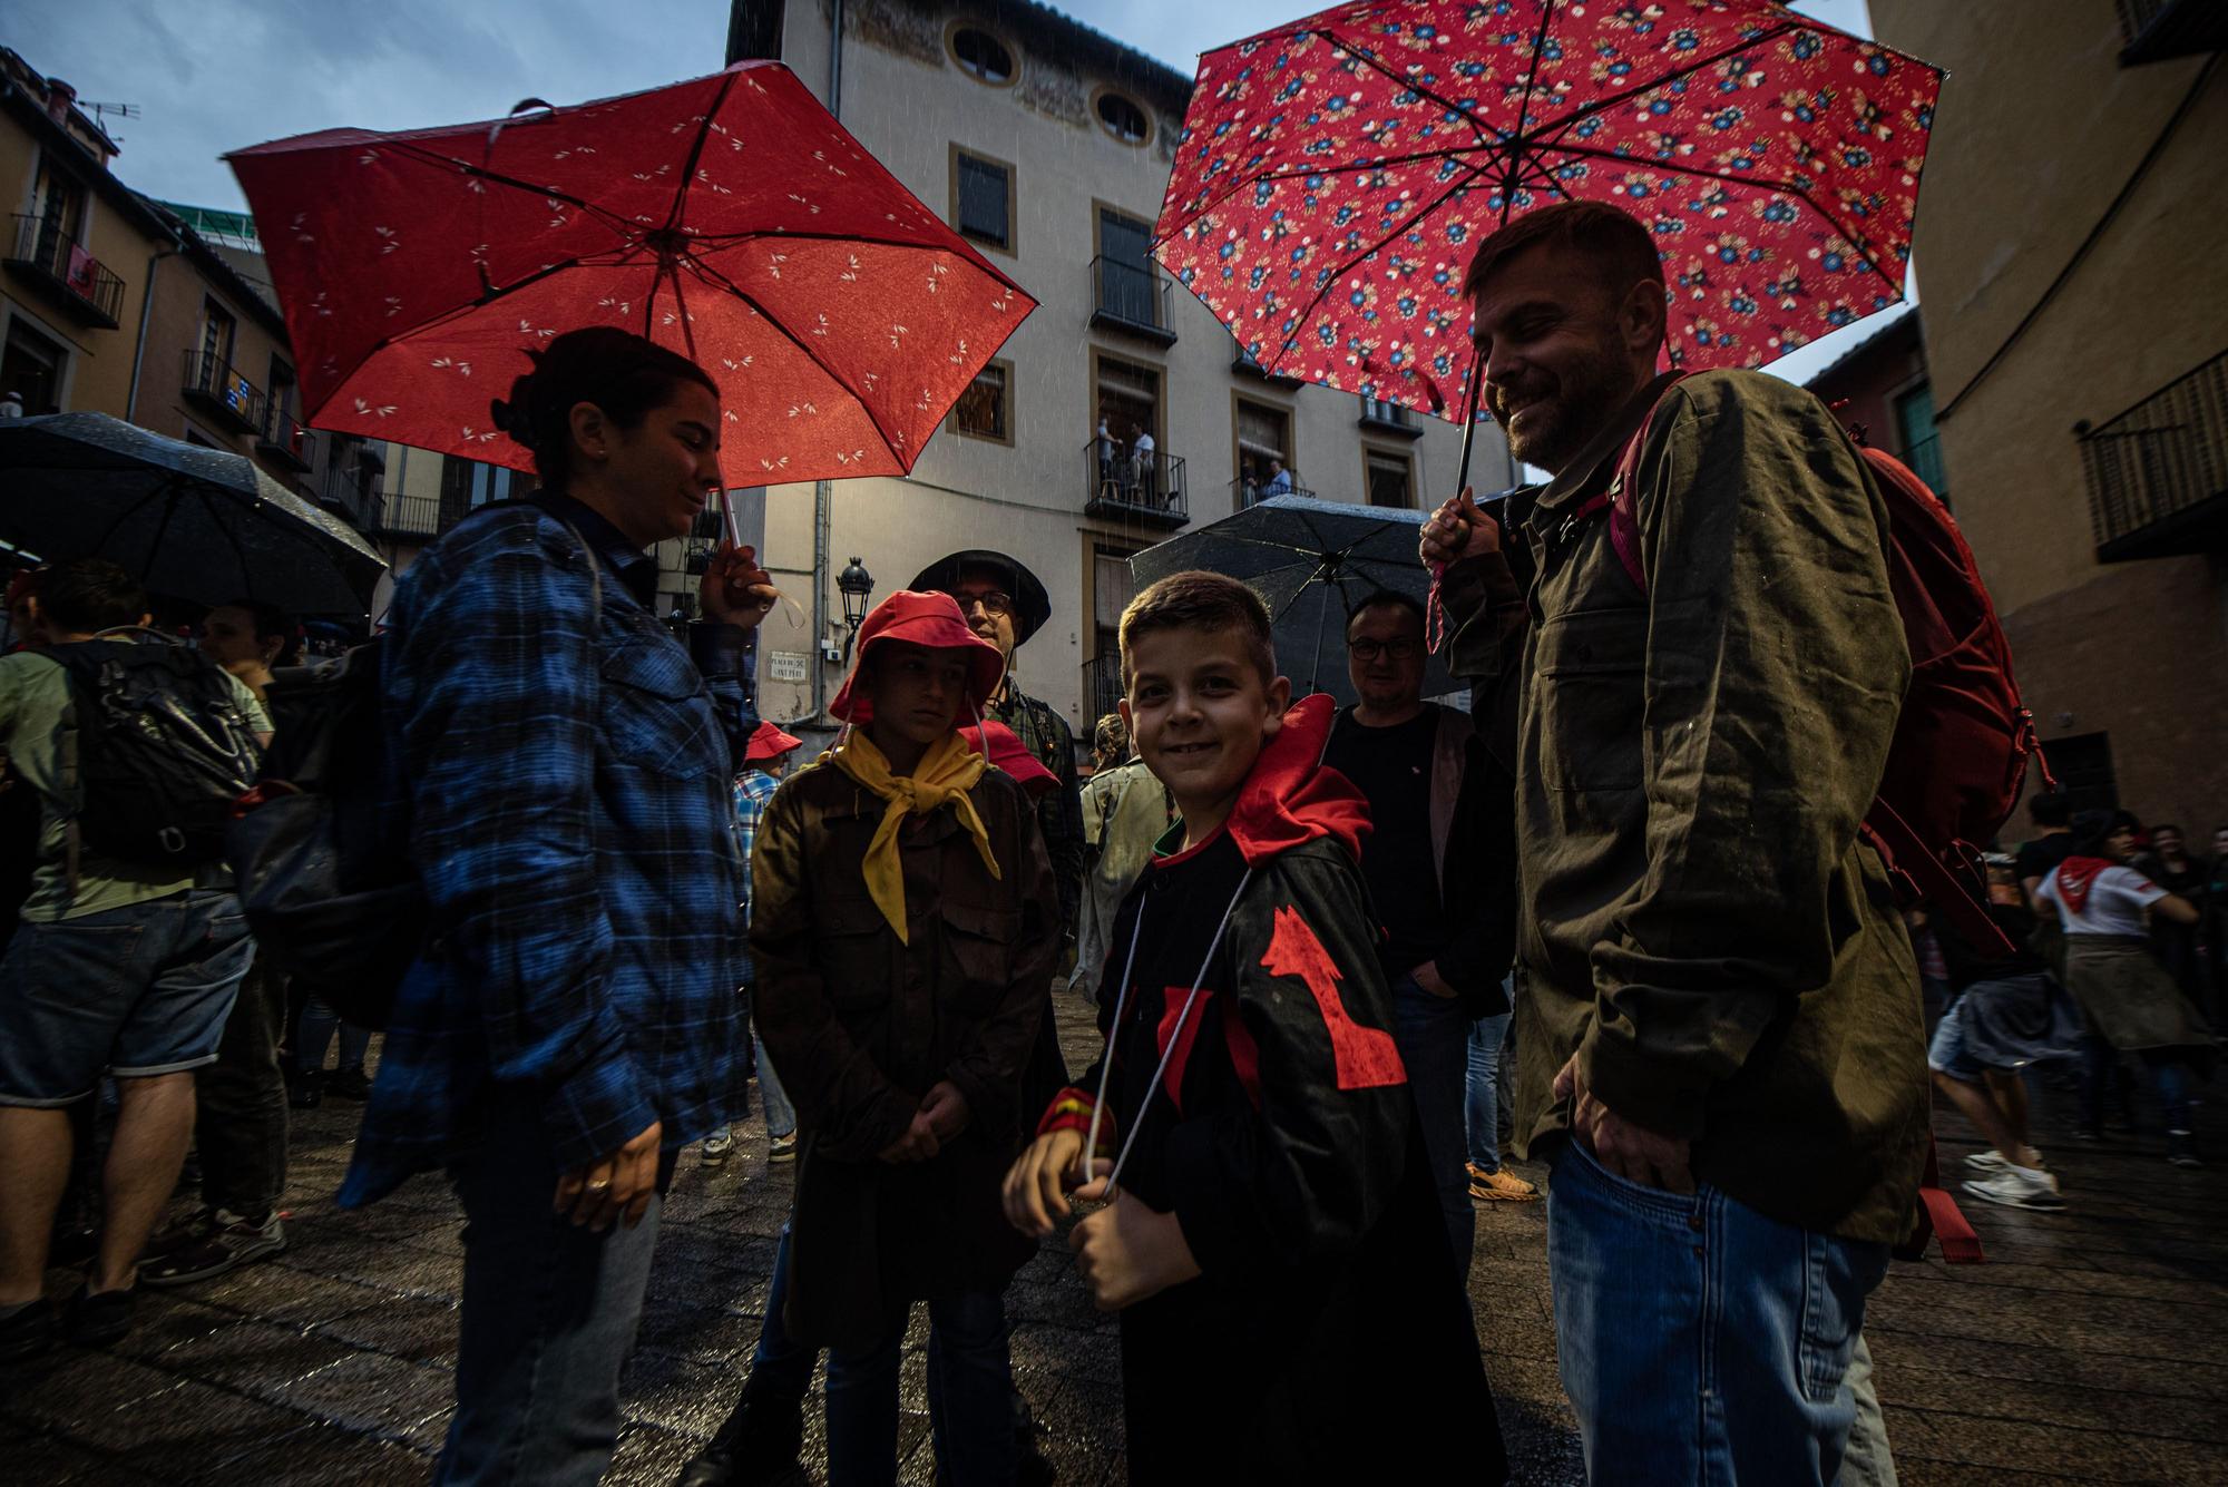
[[(1455, 425), (1263, 376), (1152, 263), (1185, 73), (1027, 0), (737, 0), (742, 58), (786, 62), (1040, 305), (911, 476), (764, 490), (764, 559), (795, 599), (760, 630), (769, 717), (833, 692), (851, 557), (876, 597), (956, 548), (1027, 563), (1054, 610), (1018, 681), (1087, 737), (1116, 695), (1132, 552), (1259, 499), (1279, 465), (1328, 501), (1450, 494)], [(1475, 472), (1513, 483), (1497, 430), (1479, 430)]]

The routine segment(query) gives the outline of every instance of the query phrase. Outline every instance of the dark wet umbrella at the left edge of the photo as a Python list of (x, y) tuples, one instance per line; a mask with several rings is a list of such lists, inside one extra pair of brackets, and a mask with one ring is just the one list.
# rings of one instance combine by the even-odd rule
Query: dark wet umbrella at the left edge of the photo
[(109, 418), (0, 418), (0, 539), (102, 557), (158, 594), (361, 619), (381, 559), (254, 461)]

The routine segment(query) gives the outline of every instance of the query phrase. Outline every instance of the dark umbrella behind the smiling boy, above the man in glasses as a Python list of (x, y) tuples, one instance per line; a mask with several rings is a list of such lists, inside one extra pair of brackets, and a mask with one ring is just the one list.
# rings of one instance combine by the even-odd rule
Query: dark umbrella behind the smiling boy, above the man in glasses
[[(1377, 592), (1426, 603), (1430, 574), (1417, 561), (1421, 512), (1346, 501), (1270, 496), (1243, 512), (1145, 548), (1130, 559), (1143, 588), (1172, 572), (1205, 568), (1243, 579), (1277, 621), (1277, 666), (1292, 688), (1355, 701), (1346, 681), (1346, 621)], [(1424, 666), (1424, 697), (1459, 690), (1444, 652)]]

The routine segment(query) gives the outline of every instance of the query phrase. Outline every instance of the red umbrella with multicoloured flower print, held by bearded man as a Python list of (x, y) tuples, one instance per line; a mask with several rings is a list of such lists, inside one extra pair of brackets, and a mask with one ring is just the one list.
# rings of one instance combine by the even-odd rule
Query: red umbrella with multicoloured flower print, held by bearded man
[(1903, 298), (1938, 87), (1767, 0), (1341, 4), (1201, 58), (1154, 252), (1266, 370), (1450, 416), (1470, 252), (1609, 200), (1671, 365), (1758, 365)]

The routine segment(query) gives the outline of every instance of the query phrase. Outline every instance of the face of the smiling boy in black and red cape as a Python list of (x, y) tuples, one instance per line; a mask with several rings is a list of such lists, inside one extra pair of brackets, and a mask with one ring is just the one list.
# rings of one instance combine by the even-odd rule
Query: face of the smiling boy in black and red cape
[(1261, 746), (1283, 728), (1292, 683), (1254, 666), (1245, 634), (1147, 630), (1130, 643), (1130, 739), (1183, 813), (1196, 846), (1223, 824)]

